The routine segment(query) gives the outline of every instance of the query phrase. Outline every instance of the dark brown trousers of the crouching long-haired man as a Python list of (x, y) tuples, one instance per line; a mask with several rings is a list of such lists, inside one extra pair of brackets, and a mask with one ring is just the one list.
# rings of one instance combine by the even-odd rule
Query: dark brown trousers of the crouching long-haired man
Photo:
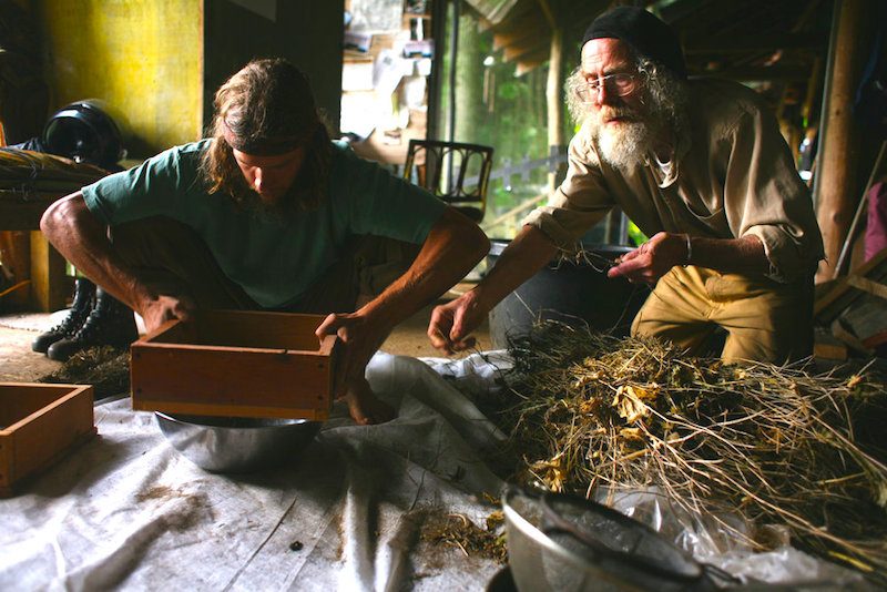
[[(201, 308), (263, 309), (228, 279), (191, 227), (159, 216), (111, 228), (114, 251), (156, 295), (191, 296)], [(298, 299), (276, 308), (289, 313), (350, 313), (380, 294), (410, 266), (420, 246), (363, 236)]]

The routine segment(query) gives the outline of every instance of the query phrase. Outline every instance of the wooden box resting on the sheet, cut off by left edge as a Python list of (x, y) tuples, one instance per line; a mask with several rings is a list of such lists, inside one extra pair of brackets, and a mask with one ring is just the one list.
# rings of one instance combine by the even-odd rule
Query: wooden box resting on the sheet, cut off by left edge
[(91, 386), (0, 382), (0, 498), (94, 435)]

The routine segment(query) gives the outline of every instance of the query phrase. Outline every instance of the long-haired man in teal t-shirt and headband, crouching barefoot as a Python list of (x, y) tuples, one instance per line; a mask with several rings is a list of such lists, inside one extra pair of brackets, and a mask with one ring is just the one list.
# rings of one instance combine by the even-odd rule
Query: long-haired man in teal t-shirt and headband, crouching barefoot
[(281, 59), (220, 88), (211, 137), (55, 202), (41, 229), (147, 330), (197, 307), (327, 314), (316, 333), (344, 341), (336, 390), (358, 423), (392, 416), (369, 358), (489, 248), (467, 217), (332, 142)]

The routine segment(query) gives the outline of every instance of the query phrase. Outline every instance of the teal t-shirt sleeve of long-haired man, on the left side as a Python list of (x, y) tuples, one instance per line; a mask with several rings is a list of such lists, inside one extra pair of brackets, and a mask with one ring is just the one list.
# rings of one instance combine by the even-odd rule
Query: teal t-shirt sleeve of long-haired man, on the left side
[[(193, 156), (193, 155), (190, 155)], [(195, 182), (195, 171), (183, 178), (179, 149), (171, 149), (129, 171), (83, 187), (86, 207), (103, 224), (173, 215), (183, 187)]]

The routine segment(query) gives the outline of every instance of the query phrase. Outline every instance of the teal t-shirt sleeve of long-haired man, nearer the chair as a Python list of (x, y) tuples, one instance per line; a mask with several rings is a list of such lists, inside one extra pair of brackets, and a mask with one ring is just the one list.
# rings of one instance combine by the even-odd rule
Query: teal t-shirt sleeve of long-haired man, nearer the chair
[(350, 152), (346, 159), (350, 231), (424, 243), (447, 204), (376, 163)]

